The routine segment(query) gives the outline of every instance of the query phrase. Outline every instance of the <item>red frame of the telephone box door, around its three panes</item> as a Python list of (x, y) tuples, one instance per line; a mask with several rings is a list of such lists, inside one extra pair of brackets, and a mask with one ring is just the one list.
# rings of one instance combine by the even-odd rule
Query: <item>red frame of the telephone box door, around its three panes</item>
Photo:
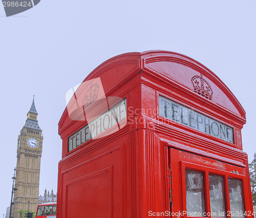
[[(209, 201), (209, 180), (208, 174), (215, 174), (218, 176), (224, 177), (224, 185), (225, 185), (225, 203), (226, 203), (226, 211), (230, 211), (230, 203), (229, 203), (229, 191), (228, 191), (228, 178), (239, 179), (243, 183), (243, 195), (244, 195), (244, 205), (245, 211), (253, 211), (250, 207), (250, 189), (246, 184), (248, 184), (248, 177), (246, 177), (246, 167), (240, 167), (236, 165), (231, 165), (229, 163), (214, 161), (209, 157), (204, 157), (202, 155), (198, 155), (195, 153), (177, 150), (175, 148), (168, 147), (168, 161), (170, 169), (173, 174), (179, 179), (172, 179), (172, 186), (174, 187), (173, 198), (181, 199), (181, 205), (173, 204), (172, 211), (186, 211), (186, 185), (185, 185), (185, 169), (193, 169), (198, 172), (204, 173), (204, 191), (205, 191), (205, 206), (206, 212), (210, 212), (210, 201)], [(190, 156), (190, 157), (189, 157)], [(191, 158), (191, 157), (196, 158)], [(187, 162), (187, 161), (190, 162)], [(208, 162), (208, 164), (205, 164)], [(218, 163), (218, 164), (217, 164)], [(216, 164), (216, 167), (214, 167)], [(222, 169), (220, 169), (222, 168)], [(225, 169), (225, 170), (224, 170)], [(239, 172), (239, 174), (231, 173), (231, 171)], [(184, 218), (189, 217), (186, 214)], [(211, 217), (211, 216), (206, 216)], [(227, 216), (230, 218), (231, 216)]]

